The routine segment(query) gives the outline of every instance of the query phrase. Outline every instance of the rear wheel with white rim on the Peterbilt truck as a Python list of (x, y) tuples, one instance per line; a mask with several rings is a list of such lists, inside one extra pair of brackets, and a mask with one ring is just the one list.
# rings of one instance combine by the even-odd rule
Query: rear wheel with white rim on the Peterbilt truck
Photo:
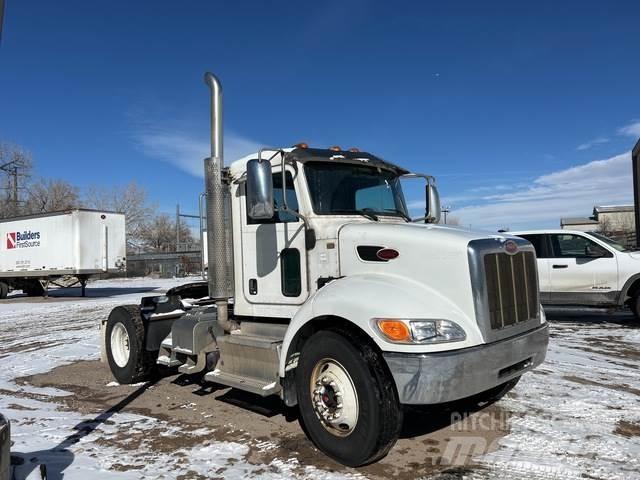
[(148, 380), (157, 371), (157, 352), (144, 348), (144, 323), (138, 305), (123, 305), (111, 311), (105, 347), (111, 373), (121, 384)]

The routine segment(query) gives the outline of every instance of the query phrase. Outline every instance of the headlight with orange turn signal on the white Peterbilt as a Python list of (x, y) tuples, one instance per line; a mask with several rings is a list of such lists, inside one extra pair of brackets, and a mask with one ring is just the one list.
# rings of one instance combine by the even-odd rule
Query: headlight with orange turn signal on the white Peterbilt
[(386, 340), (394, 343), (461, 342), (467, 338), (463, 328), (450, 320), (376, 318), (374, 324)]

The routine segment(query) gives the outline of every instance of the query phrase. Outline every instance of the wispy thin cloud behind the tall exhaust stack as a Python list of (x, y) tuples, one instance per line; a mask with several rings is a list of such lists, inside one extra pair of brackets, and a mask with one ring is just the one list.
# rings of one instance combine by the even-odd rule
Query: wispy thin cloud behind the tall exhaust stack
[[(147, 129), (134, 134), (134, 140), (142, 152), (175, 165), (196, 177), (204, 176), (203, 161), (210, 154), (209, 142), (184, 132), (174, 132), (158, 128)], [(261, 145), (233, 132), (224, 136), (225, 164), (257, 152)]]

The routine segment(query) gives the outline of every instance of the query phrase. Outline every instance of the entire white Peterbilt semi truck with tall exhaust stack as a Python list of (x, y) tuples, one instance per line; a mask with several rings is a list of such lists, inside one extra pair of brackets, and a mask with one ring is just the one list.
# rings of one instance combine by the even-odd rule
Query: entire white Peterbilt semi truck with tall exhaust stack
[[(529, 242), (435, 225), (432, 177), (355, 149), (268, 148), (224, 167), (222, 89), (205, 82), (208, 280), (104, 320), (120, 383), (164, 365), (279, 395), (321, 451), (360, 466), (393, 446), (403, 405), (491, 398), (544, 360)], [(426, 182), (422, 223), (403, 177)]]

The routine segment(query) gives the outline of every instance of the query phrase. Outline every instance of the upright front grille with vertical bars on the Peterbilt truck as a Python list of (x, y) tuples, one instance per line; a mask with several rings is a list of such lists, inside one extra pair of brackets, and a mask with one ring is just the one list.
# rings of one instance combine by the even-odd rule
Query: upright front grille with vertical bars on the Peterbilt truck
[(484, 273), (492, 330), (538, 317), (538, 279), (533, 252), (487, 253)]

